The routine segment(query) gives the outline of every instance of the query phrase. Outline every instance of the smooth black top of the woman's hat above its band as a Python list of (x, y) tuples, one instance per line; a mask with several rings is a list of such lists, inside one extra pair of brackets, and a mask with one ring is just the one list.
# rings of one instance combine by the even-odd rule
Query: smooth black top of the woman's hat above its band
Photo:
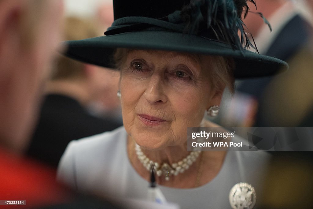
[(162, 18), (189, 3), (190, 0), (113, 0), (114, 20), (124, 17)]

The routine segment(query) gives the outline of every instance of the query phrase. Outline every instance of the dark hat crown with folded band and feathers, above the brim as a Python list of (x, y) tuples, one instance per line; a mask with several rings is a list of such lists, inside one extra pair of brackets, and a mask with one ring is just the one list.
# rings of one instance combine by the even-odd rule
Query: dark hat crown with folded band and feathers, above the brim
[(247, 1), (255, 4), (254, 0), (115, 0), (115, 21), (105, 35), (153, 28), (198, 35), (241, 51), (250, 46), (256, 49), (241, 19), (243, 9), (249, 10)]

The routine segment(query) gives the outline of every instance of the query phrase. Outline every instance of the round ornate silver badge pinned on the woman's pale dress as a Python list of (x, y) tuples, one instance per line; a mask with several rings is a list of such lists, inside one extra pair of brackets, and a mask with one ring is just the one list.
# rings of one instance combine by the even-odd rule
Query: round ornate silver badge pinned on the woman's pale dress
[(244, 182), (235, 184), (229, 192), (229, 203), (233, 209), (252, 209), (256, 203), (254, 187)]

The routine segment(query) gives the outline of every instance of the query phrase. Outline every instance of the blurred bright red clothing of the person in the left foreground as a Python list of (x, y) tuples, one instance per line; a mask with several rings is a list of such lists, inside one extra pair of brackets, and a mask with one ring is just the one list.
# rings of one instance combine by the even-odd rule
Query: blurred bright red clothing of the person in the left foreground
[(65, 203), (70, 192), (55, 183), (55, 170), (0, 149), (0, 200), (26, 200), (30, 208)]

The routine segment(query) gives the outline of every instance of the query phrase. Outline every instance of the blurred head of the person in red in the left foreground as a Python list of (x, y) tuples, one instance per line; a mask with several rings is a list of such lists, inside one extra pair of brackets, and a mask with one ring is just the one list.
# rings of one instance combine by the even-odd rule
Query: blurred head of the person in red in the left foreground
[(0, 146), (22, 152), (60, 41), (61, 0), (0, 0)]

